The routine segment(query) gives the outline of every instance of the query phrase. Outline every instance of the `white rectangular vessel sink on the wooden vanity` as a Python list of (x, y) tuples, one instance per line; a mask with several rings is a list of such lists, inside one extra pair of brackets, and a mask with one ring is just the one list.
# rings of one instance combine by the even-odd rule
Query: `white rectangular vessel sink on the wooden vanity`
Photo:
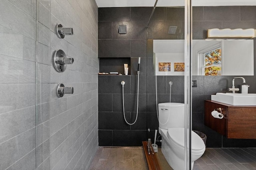
[(212, 100), (230, 105), (256, 106), (256, 94), (216, 93)]

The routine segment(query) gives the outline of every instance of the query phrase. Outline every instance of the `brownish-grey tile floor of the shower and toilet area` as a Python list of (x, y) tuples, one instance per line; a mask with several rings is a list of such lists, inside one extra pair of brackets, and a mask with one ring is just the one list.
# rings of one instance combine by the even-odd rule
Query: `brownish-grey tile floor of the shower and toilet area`
[[(159, 151), (162, 169), (172, 170)], [(142, 147), (99, 147), (89, 170), (148, 170), (148, 167)], [(193, 170), (256, 170), (256, 148), (207, 148), (195, 161)]]

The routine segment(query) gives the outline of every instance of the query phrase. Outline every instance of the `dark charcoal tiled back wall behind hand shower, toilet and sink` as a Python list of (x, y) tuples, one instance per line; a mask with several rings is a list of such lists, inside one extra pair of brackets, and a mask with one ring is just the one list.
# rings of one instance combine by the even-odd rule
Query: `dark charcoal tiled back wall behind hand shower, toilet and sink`
[[(116, 57), (120, 61), (120, 57), (131, 57), (130, 75), (98, 76), (99, 145), (140, 146), (149, 137), (154, 139), (154, 130), (158, 129), (152, 39), (184, 39), (184, 8), (156, 8), (148, 29), (146, 25), (152, 7), (99, 8), (98, 11), (98, 57), (104, 58), (100, 61), (107, 62), (105, 57)], [(210, 28), (256, 29), (256, 6), (193, 7), (192, 16), (193, 39), (205, 39)], [(127, 34), (118, 34), (118, 25), (127, 25)], [(176, 34), (168, 34), (170, 25), (178, 26)], [(136, 117), (137, 57), (142, 57), (138, 120), (134, 125), (127, 125), (122, 113), (120, 82), (125, 81), (126, 119), (132, 123)], [(112, 63), (110, 59), (104, 65), (111, 68)], [(204, 125), (204, 100), (209, 100), (210, 95), (216, 92), (227, 92), (233, 77), (193, 76), (198, 85), (192, 88), (192, 128), (207, 135), (207, 147), (256, 147), (256, 140), (226, 139)], [(254, 76), (243, 77), (250, 85), (249, 93), (256, 93), (256, 48)], [(158, 103), (169, 102), (170, 81), (173, 82), (172, 102), (184, 102), (184, 76), (157, 76)], [(236, 82), (236, 86), (241, 84)], [(160, 143), (157, 144), (160, 146)]]

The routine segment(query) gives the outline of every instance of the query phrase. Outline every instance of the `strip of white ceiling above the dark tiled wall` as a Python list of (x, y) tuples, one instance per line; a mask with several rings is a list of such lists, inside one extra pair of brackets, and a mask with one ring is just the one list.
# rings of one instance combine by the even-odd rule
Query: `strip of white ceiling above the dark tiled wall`
[[(156, 0), (96, 0), (102, 7), (154, 6)], [(156, 6), (184, 6), (185, 0), (158, 0)], [(192, 0), (192, 6), (256, 6), (256, 0)]]

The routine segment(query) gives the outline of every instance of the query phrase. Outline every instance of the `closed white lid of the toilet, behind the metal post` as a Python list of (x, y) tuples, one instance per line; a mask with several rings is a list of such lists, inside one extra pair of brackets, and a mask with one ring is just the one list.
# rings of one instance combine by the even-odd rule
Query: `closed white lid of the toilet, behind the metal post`
[[(169, 128), (168, 138), (184, 148), (184, 128)], [(205, 149), (204, 141), (194, 131), (191, 131), (191, 138), (191, 150), (196, 151)]]

